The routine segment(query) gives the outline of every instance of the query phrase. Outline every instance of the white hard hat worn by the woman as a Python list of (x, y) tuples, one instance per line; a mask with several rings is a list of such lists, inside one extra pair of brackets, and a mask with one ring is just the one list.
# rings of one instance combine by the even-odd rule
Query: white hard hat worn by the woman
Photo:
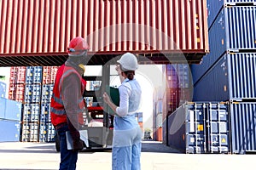
[(122, 71), (136, 71), (138, 68), (137, 58), (131, 53), (123, 54), (117, 62), (122, 65)]

